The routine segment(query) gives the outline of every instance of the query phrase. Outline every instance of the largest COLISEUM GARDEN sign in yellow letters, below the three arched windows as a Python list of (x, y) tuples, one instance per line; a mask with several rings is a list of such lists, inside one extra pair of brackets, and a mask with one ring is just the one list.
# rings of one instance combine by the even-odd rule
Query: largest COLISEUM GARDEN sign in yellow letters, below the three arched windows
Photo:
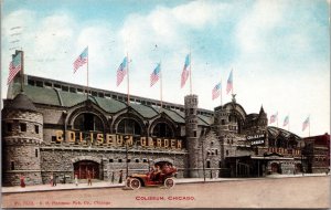
[(103, 133), (83, 133), (67, 130), (64, 137), (63, 130), (56, 130), (56, 143), (67, 141), (73, 144), (95, 144), (95, 145), (108, 145), (111, 147), (121, 146), (141, 146), (149, 148), (169, 148), (169, 149), (182, 149), (181, 139), (168, 139), (168, 138), (152, 138), (145, 136), (131, 136), (120, 134), (106, 134)]

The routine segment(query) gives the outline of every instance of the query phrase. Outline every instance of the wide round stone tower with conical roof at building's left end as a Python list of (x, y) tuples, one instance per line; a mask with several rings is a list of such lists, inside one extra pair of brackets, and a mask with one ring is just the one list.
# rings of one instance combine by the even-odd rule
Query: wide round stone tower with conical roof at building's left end
[(24, 93), (4, 101), (2, 109), (2, 183), (19, 186), (42, 183), (40, 144), (43, 141), (43, 115)]

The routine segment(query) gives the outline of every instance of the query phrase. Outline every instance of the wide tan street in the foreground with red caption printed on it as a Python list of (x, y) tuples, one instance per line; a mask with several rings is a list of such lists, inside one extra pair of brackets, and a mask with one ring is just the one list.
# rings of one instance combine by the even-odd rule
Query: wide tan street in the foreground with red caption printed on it
[(329, 208), (330, 177), (3, 193), (2, 208)]

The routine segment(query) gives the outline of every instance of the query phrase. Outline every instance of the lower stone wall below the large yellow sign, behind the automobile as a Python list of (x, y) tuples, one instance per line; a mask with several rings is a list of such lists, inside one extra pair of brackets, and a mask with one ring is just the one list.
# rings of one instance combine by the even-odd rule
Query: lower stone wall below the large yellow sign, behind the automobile
[[(183, 177), (182, 168), (185, 168), (185, 155), (150, 153), (150, 151), (128, 151), (129, 175), (134, 172), (147, 172), (149, 166), (153, 166), (154, 160), (159, 158), (168, 158), (173, 161), (173, 166), (179, 168), (178, 177)], [(103, 180), (111, 180), (113, 172), (115, 181), (119, 179), (119, 170), (122, 170), (126, 177), (126, 153), (125, 150), (102, 150), (102, 149), (63, 149), (56, 147), (41, 148), (41, 169), (42, 180), (44, 183), (50, 181), (51, 175), (55, 174), (60, 177), (64, 175), (71, 182), (74, 178), (74, 162), (77, 160), (92, 160), (99, 164), (99, 178)], [(136, 162), (136, 160), (139, 162)], [(150, 164), (148, 164), (148, 160)], [(145, 162), (146, 161), (146, 162)]]

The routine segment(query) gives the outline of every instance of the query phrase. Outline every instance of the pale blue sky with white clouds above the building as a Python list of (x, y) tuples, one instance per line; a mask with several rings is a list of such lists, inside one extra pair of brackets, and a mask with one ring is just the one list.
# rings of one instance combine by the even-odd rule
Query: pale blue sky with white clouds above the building
[[(73, 62), (88, 46), (89, 86), (127, 93), (116, 72), (128, 54), (130, 94), (160, 99), (150, 87), (159, 62), (163, 101), (184, 104), (180, 87), (191, 53), (192, 92), (199, 107), (213, 111), (231, 101), (247, 114), (263, 106), (278, 127), (301, 136), (330, 134), (330, 0), (3, 0), (1, 94), (15, 49), (24, 51), (24, 73), (86, 85), (86, 65)], [(284, 119), (289, 116), (289, 126)], [(277, 126), (277, 122), (269, 124)]]

